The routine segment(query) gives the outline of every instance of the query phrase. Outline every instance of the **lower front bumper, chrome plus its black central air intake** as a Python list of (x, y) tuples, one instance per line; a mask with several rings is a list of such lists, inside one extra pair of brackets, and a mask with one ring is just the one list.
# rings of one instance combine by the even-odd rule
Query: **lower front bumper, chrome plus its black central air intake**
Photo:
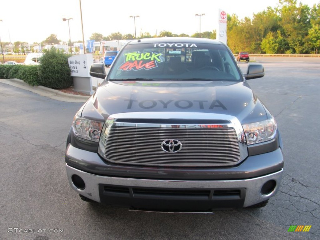
[[(190, 208), (192, 211), (210, 211), (217, 208), (248, 207), (274, 196), (283, 172), (281, 169), (264, 176), (240, 180), (155, 180), (95, 175), (68, 164), (66, 169), (71, 188), (96, 202), (164, 211), (184, 211), (191, 210)], [(84, 181), (83, 189), (75, 186), (72, 180), (72, 176), (75, 175)], [(276, 186), (268, 195), (262, 195), (261, 188), (269, 180), (274, 180)], [(137, 194), (134, 189), (137, 189)], [(214, 191), (225, 194), (223, 197), (215, 197)], [(237, 196), (234, 194), (235, 191)], [(180, 195), (177, 194), (179, 192)]]

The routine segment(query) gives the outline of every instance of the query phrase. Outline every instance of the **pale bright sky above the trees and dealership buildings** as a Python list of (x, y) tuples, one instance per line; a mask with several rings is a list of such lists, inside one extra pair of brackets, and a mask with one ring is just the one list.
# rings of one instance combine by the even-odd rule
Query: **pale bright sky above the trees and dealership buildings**
[[(2, 0), (0, 11), (0, 37), (2, 42), (42, 42), (51, 34), (61, 41), (82, 40), (80, 0)], [(298, 0), (312, 7), (319, 0)], [(114, 32), (136, 35), (148, 32), (151, 36), (161, 31), (192, 35), (218, 28), (219, 9), (236, 14), (239, 19), (274, 8), (278, 0), (81, 0), (84, 40), (92, 33), (108, 36)], [(139, 18), (130, 18), (137, 16)]]

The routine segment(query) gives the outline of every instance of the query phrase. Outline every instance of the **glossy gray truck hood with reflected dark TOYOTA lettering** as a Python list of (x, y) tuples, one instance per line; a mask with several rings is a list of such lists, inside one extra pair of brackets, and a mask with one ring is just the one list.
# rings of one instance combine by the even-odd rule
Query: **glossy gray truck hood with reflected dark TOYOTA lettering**
[(154, 111), (226, 114), (241, 123), (271, 116), (246, 82), (217, 81), (105, 81), (81, 116), (104, 121), (116, 113)]

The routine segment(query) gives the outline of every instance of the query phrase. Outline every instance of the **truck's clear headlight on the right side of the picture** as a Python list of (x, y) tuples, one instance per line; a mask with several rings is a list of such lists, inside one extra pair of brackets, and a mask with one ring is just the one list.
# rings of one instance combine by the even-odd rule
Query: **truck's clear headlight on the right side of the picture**
[(274, 118), (250, 124), (243, 124), (247, 144), (269, 141), (276, 136), (277, 124)]

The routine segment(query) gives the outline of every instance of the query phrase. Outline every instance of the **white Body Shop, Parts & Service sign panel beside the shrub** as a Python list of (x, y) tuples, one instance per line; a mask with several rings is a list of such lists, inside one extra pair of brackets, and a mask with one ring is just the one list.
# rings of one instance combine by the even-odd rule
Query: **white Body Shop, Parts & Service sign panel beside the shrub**
[(93, 63), (92, 54), (74, 55), (68, 58), (71, 76), (90, 77), (89, 69)]

